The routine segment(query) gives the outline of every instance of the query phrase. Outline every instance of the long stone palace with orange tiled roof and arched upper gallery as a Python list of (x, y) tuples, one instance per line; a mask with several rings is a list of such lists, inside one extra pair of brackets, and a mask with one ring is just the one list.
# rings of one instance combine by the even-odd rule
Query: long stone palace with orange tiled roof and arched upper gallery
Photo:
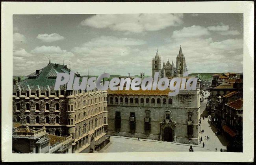
[(108, 91), (108, 134), (198, 144), (199, 89)]

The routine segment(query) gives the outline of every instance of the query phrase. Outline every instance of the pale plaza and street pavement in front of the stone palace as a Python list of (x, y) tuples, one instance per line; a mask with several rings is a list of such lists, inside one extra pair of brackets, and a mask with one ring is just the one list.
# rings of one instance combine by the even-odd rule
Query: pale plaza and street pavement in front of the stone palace
[[(200, 112), (201, 116), (207, 115), (208, 112), (204, 111), (206, 107), (206, 100), (201, 104)], [(204, 129), (204, 133), (199, 134), (199, 138), (203, 138), (203, 141), (199, 145), (192, 145), (194, 152), (197, 151), (214, 151), (217, 148), (217, 151), (220, 152), (220, 149), (226, 151), (226, 140), (223, 136), (215, 136), (216, 129), (214, 126), (210, 125), (208, 118), (201, 118), (201, 130)], [(209, 140), (206, 140), (204, 136), (210, 136)], [(202, 143), (205, 143), (204, 148)], [(158, 141), (158, 140), (148, 140), (137, 138), (128, 138), (123, 136), (111, 136), (111, 141), (106, 145), (102, 150), (98, 152), (189, 152), (189, 144), (182, 143), (172, 143), (167, 141)]]

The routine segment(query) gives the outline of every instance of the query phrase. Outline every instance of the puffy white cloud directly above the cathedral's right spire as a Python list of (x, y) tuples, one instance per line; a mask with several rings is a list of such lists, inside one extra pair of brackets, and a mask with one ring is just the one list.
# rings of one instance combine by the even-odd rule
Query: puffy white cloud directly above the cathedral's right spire
[(210, 33), (207, 28), (193, 25), (191, 27), (183, 27), (183, 29), (174, 31), (172, 38), (199, 37), (209, 34)]

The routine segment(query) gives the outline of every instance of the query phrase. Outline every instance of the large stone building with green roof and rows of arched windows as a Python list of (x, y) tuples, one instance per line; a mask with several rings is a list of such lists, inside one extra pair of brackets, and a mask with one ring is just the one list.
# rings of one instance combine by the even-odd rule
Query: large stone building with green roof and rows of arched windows
[[(67, 65), (52, 64), (36, 70), (13, 86), (13, 122), (42, 128), (56, 136), (73, 138), (72, 152), (92, 152), (106, 143), (107, 91), (54, 90), (57, 73)], [(75, 77), (80, 76), (75, 74)], [(100, 143), (99, 143), (100, 142)]]

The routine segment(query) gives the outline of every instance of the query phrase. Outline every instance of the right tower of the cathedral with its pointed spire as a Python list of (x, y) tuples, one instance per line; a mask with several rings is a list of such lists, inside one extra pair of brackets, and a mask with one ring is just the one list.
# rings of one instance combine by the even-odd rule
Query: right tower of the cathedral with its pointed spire
[(182, 77), (183, 73), (187, 71), (187, 65), (185, 56), (182, 53), (182, 49), (180, 46), (180, 51), (178, 53), (178, 56), (176, 58), (176, 70), (177, 70), (177, 77)]

